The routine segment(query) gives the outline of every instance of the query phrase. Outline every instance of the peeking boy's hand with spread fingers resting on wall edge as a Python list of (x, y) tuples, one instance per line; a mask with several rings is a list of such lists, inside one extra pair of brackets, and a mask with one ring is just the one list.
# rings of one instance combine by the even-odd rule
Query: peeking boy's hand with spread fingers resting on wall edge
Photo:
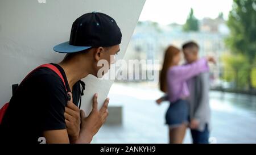
[(98, 132), (102, 124), (105, 123), (105, 120), (109, 115), (109, 98), (105, 100), (100, 111), (98, 111), (97, 97), (98, 95), (94, 94), (93, 109), (87, 118), (85, 118), (84, 111), (81, 110), (81, 130), (79, 139), (76, 141), (76, 143), (90, 143), (90, 141), (92, 141), (93, 136)]

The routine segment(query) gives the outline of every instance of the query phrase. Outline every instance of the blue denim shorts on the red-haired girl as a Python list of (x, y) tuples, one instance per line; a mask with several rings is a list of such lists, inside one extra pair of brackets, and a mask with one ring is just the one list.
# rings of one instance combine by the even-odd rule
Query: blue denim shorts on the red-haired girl
[(170, 103), (166, 112), (166, 124), (169, 127), (179, 127), (189, 121), (189, 104), (187, 100), (179, 99)]

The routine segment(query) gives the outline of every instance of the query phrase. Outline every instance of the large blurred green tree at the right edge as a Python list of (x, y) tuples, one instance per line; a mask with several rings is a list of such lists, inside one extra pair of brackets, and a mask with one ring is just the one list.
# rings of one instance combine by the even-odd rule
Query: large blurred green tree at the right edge
[[(248, 64), (249, 75), (255, 65), (256, 53), (256, 0), (234, 0), (232, 10), (229, 12), (228, 27), (230, 35), (226, 45), (231, 51), (245, 56)], [(249, 89), (253, 88), (251, 79), (247, 76)]]

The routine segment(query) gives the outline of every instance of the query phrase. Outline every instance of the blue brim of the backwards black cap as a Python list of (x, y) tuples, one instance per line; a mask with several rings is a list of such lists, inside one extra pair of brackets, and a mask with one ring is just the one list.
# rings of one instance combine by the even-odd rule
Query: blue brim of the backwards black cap
[(75, 52), (83, 51), (88, 48), (91, 48), (91, 47), (79, 47), (79, 46), (69, 45), (69, 41), (67, 41), (65, 43), (56, 45), (55, 47), (53, 47), (53, 50), (59, 53), (75, 53)]

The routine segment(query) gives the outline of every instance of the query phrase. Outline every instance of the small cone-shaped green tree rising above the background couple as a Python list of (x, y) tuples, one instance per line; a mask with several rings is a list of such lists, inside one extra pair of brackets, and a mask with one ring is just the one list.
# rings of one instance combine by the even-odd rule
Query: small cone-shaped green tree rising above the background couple
[(198, 30), (199, 30), (199, 23), (194, 16), (193, 9), (191, 8), (187, 21), (183, 26), (183, 31), (198, 31)]

